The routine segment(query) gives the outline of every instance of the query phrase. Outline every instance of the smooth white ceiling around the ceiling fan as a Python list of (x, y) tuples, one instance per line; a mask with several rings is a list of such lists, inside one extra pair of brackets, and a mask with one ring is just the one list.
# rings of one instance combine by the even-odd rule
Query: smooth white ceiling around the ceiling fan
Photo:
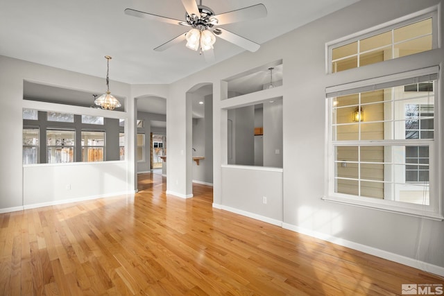
[[(264, 3), (268, 15), (223, 28), (262, 44), (357, 0), (203, 0), (217, 14)], [(1, 0), (0, 55), (130, 84), (171, 83), (210, 64), (185, 44), (153, 49), (187, 28), (125, 15), (125, 8), (185, 19), (180, 0)], [(243, 51), (218, 38), (215, 60)]]

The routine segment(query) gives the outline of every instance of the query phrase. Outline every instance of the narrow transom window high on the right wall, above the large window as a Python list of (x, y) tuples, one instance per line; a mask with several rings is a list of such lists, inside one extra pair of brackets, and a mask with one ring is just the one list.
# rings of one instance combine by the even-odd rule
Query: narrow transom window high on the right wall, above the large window
[(429, 13), (328, 46), (329, 73), (435, 49), (436, 19)]

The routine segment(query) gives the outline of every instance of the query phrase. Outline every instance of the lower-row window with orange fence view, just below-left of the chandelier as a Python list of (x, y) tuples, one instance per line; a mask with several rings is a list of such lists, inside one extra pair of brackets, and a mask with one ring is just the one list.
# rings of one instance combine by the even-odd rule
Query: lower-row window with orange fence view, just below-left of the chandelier
[(82, 131), (82, 162), (103, 162), (105, 132)]

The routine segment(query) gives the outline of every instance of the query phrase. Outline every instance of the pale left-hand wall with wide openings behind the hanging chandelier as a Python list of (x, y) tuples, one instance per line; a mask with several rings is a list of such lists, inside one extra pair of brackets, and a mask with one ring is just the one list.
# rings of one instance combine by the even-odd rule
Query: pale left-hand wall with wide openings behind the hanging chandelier
[[(67, 89), (76, 89), (92, 94), (103, 92), (104, 78), (87, 76), (53, 67), (46, 67), (23, 60), (0, 56), (0, 131), (4, 137), (0, 143), (0, 212), (17, 211), (31, 204), (47, 204), (63, 200), (83, 200), (108, 196), (111, 194), (134, 193), (135, 178), (134, 152), (126, 153), (124, 162), (106, 162), (95, 164), (70, 164), (51, 166), (41, 164), (22, 165), (22, 108), (104, 116), (114, 119), (126, 119), (126, 151), (135, 150), (135, 103), (133, 98), (142, 95), (166, 97), (165, 85), (128, 85), (112, 81), (112, 94), (126, 98), (125, 112), (99, 110), (88, 107), (44, 103), (23, 100), (23, 81), (52, 85)], [(57, 171), (57, 174), (49, 173)], [(91, 173), (94, 172), (94, 177)], [(26, 178), (24, 178), (26, 175)], [(49, 177), (49, 176), (53, 177)], [(62, 186), (56, 182), (60, 175), (72, 179), (71, 189), (66, 189), (66, 180)], [(80, 181), (87, 186), (80, 189)], [(96, 182), (92, 182), (96, 180)], [(40, 186), (39, 184), (45, 184)], [(38, 186), (37, 186), (38, 185)], [(48, 191), (48, 192), (46, 192)], [(51, 192), (49, 192), (51, 191)], [(36, 192), (36, 195), (33, 195)], [(37, 194), (38, 193), (38, 194)], [(46, 194), (47, 193), (47, 194)]]

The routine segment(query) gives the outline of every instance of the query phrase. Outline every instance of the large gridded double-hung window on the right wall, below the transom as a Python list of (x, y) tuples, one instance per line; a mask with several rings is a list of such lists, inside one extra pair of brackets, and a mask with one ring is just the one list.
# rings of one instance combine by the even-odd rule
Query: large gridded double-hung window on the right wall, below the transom
[[(437, 98), (434, 92), (405, 89), (418, 80), (436, 89), (437, 71), (422, 69), (370, 79), (365, 86), (359, 82), (359, 87), (350, 83), (327, 89), (332, 157), (325, 199), (436, 216), (437, 197), (431, 193), (436, 186)], [(423, 72), (427, 75), (415, 76)]]

